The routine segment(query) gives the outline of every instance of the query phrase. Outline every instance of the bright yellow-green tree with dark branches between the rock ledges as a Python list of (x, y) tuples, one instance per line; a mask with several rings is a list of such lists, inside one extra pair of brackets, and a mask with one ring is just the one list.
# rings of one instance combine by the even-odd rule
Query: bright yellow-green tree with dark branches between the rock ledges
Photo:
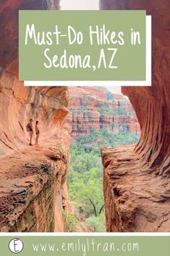
[(69, 178), (69, 196), (82, 207), (83, 215), (97, 217), (103, 211), (103, 180), (98, 168), (92, 168), (85, 173), (76, 173), (71, 170)]

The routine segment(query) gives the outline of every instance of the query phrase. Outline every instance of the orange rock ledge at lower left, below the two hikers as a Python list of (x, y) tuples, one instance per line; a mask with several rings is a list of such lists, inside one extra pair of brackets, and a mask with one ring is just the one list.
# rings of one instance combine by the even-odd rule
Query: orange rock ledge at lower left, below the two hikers
[(29, 146), (1, 158), (0, 231), (63, 232), (69, 152), (67, 133), (41, 146)]

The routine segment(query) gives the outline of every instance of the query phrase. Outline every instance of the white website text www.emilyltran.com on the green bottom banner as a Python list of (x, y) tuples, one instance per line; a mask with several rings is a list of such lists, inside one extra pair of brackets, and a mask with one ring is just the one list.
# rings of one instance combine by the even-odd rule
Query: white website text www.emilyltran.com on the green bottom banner
[(81, 241), (77, 239), (75, 241), (48, 244), (48, 243), (37, 243), (33, 244), (33, 252), (44, 252), (48, 254), (57, 252), (80, 252), (82, 256), (91, 255), (96, 252), (139, 252), (139, 243), (137, 242), (123, 242), (117, 244), (114, 241), (99, 243), (95, 239), (86, 239)]

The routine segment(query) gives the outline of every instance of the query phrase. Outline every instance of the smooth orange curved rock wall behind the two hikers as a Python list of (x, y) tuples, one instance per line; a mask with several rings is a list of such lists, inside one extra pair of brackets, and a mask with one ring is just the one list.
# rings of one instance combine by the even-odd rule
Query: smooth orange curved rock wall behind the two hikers
[(39, 120), (41, 134), (61, 129), (67, 115), (67, 88), (27, 88), (9, 73), (0, 78), (0, 156), (28, 144), (26, 125)]

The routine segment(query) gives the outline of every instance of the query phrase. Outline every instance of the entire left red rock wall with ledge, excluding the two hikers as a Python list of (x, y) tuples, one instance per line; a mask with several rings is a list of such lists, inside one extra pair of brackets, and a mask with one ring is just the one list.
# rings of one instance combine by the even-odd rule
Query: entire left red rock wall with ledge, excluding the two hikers
[[(68, 91), (66, 87), (28, 88), (17, 79), (18, 10), (58, 8), (58, 0), (1, 0), (0, 231), (64, 231)], [(38, 147), (27, 146), (25, 126), (30, 117), (34, 124), (40, 123)]]

